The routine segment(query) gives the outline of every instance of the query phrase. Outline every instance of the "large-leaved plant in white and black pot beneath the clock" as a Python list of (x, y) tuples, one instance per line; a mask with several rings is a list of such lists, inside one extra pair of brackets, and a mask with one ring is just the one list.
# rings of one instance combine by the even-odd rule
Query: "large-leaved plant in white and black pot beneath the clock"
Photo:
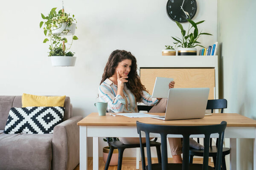
[[(203, 23), (203, 21), (199, 21), (195, 23), (192, 20), (187, 19), (189, 22), (189, 29), (186, 31), (183, 29), (183, 26), (175, 21), (177, 26), (180, 28), (181, 31), (181, 38), (178, 37), (172, 37), (176, 42), (173, 42), (175, 44), (175, 47), (180, 47), (177, 49), (178, 55), (197, 55), (196, 46), (201, 46), (204, 48), (204, 46), (199, 45), (201, 42), (198, 42), (198, 38), (201, 37), (201, 35), (212, 35), (209, 33), (202, 33), (198, 31), (197, 25), (200, 23)], [(192, 29), (194, 28), (194, 30)], [(190, 32), (191, 31), (191, 32)]]

